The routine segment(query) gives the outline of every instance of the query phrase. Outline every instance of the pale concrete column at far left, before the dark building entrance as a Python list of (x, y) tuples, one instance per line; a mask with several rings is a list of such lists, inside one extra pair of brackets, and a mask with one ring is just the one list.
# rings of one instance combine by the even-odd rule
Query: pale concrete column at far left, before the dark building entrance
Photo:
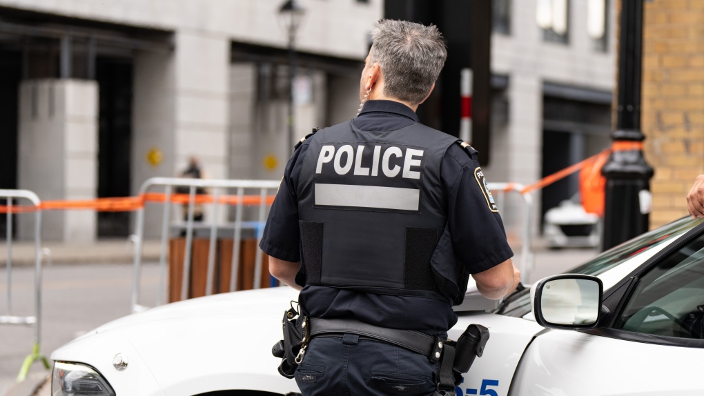
[[(18, 186), (42, 200), (96, 198), (98, 84), (74, 79), (29, 80), (20, 85)], [(20, 219), (32, 236), (32, 219)], [(89, 243), (96, 213), (44, 212), (43, 238)]]

